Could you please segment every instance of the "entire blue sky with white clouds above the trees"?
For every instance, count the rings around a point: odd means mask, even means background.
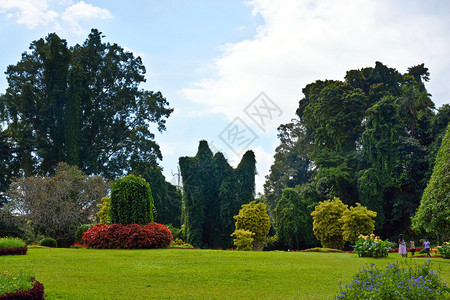
[[[33,40],[56,32],[69,45],[91,28],[141,56],[142,88],[175,108],[157,135],[169,181],[202,139],[237,165],[256,153],[262,191],[279,124],[302,88],[380,61],[400,72],[425,63],[437,107],[450,103],[450,2],[442,0],[0,0],[0,70]],[[0,93],[6,89],[0,76]]]

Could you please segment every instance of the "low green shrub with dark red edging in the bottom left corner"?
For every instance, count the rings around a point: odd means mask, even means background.
[[[44,286],[31,274],[4,271],[0,273],[0,299],[44,299]]]

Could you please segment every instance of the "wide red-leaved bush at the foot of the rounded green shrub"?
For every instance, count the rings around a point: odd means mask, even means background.
[[[172,239],[170,230],[158,223],[99,224],[83,234],[84,243],[96,249],[168,248]]]

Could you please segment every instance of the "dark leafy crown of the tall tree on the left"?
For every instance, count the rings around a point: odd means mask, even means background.
[[[7,180],[53,174],[59,162],[112,179],[162,158],[149,125],[162,132],[173,109],[160,92],[139,88],[141,58],[103,37],[92,29],[82,45],[68,47],[51,33],[7,68],[0,99]]]

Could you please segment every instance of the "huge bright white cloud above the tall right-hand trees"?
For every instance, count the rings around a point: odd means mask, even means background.
[[[317,79],[343,79],[350,69],[381,61],[406,72],[425,63],[429,91],[448,103],[450,9],[438,1],[254,0],[253,13],[264,19],[251,40],[223,46],[211,76],[182,90],[188,99],[229,120],[264,91],[294,116],[301,89]],[[444,9],[446,8],[446,9]],[[445,13],[446,11],[446,13]],[[246,120],[248,121],[248,120]]]

